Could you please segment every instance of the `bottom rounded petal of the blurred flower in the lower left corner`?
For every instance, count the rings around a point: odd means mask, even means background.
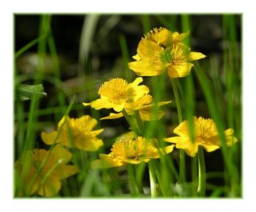
[[[48,178],[45,179],[45,183],[39,188],[38,194],[40,196],[52,197],[53,195],[56,195],[60,189],[61,182],[59,179],[53,176],[48,176]]]

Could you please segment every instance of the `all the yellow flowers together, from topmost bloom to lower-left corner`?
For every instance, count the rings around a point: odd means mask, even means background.
[[[206,57],[200,52],[191,52],[190,48],[182,43],[187,35],[188,33],[172,33],[166,28],[154,28],[141,39],[138,44],[138,53],[132,57],[136,61],[130,62],[129,68],[138,76],[157,76],[164,71],[167,71],[171,78],[187,76],[193,66],[192,60]],[[121,78],[110,79],[99,87],[100,98],[83,105],[97,110],[105,108],[116,111],[101,119],[117,119],[123,116],[129,118],[134,114],[137,114],[142,122],[161,119],[165,112],[159,110],[159,106],[171,101],[153,103],[152,96],[148,94],[149,88],[146,85],[139,85],[141,82],[143,82],[142,77],[136,78],[131,83]],[[152,113],[155,108],[157,111]],[[111,152],[99,154],[100,159],[91,162],[91,168],[111,168],[127,163],[148,162],[169,154],[174,146],[184,149],[189,156],[195,157],[198,146],[203,146],[207,152],[212,152],[219,149],[222,144],[212,119],[194,117],[193,141],[189,135],[187,120],[181,122],[173,130],[178,136],[163,139],[172,144],[161,148],[156,138],[143,137],[145,135],[140,130],[139,121],[136,118],[132,120],[138,128],[137,133],[132,131],[116,138],[110,149]],[[79,172],[76,165],[67,165],[72,158],[68,148],[97,151],[103,145],[102,140],[97,138],[103,129],[93,130],[96,125],[97,120],[89,115],[78,119],[63,117],[59,122],[58,130],[52,133],[43,132],[42,141],[54,146],[53,149],[48,151],[34,149],[31,152],[25,152],[15,162],[15,170],[23,185],[21,191],[27,195],[34,193],[46,197],[56,195],[61,188],[60,180]],[[232,129],[225,130],[227,146],[238,141],[232,135]],[[34,179],[34,182],[33,180],[31,182],[31,179]]]

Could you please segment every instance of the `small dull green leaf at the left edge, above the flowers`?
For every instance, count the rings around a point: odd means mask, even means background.
[[[39,85],[23,85],[20,84],[17,86],[18,98],[21,101],[29,100],[33,97],[42,98],[47,96],[47,93],[44,92],[44,87],[42,84]]]

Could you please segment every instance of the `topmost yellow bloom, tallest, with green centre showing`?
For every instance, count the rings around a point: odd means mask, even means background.
[[[205,58],[200,52],[190,52],[190,48],[181,43],[187,34],[171,33],[165,28],[154,29],[138,44],[136,61],[128,63],[138,76],[157,76],[167,70],[171,78],[187,76],[192,60]]]

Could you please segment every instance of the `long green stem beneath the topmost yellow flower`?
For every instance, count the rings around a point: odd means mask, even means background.
[[[178,123],[181,124],[182,122],[181,100],[178,95],[178,89],[176,86],[175,79],[170,79],[170,83],[173,87],[174,98],[176,100],[176,106],[178,111]],[[183,184],[186,181],[186,168],[185,168],[185,153],[184,153],[184,150],[182,149],[179,150],[179,159],[180,159],[179,179],[180,179],[180,183]]]

